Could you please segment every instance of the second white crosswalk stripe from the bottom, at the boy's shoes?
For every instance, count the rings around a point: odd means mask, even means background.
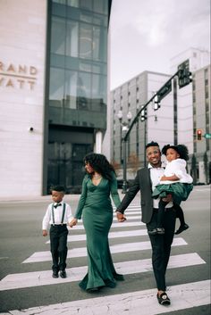
[[[198,253],[185,253],[170,257],[168,269],[195,266],[206,263]],[[122,275],[152,271],[151,259],[122,261],[114,263]],[[87,273],[87,266],[66,269],[67,278],[52,278],[52,270],[34,271],[8,275],[0,281],[0,291],[31,286],[47,286],[66,282],[80,281]]]

